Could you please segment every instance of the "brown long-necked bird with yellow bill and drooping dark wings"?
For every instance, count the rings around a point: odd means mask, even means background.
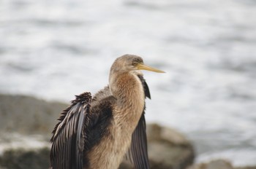
[[[113,62],[106,87],[76,95],[53,129],[51,169],[116,169],[124,157],[136,169],[149,168],[145,99],[151,95],[141,70],[165,73],[126,54]]]

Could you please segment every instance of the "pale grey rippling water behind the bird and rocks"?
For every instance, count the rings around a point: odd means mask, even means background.
[[[146,120],[180,130],[197,162],[256,165],[256,1],[1,0],[0,93],[68,102],[140,55]]]

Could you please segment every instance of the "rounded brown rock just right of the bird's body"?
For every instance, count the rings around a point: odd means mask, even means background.
[[[192,144],[176,130],[157,124],[147,125],[148,158],[151,169],[182,169],[192,165],[195,152]],[[132,168],[129,162],[120,169]]]

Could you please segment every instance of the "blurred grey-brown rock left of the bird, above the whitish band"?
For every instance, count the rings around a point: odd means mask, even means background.
[[[0,131],[50,135],[67,104],[24,95],[0,95]]]

